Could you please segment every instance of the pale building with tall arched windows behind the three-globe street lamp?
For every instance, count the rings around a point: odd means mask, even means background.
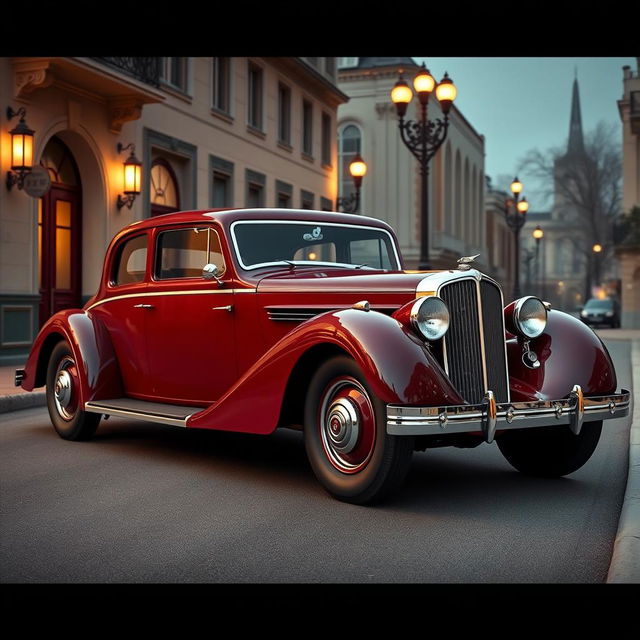
[[[353,183],[348,165],[356,151],[368,165],[359,212],[385,220],[398,234],[408,268],[420,255],[420,170],[398,131],[390,93],[401,70],[407,82],[420,70],[412,58],[339,58],[338,86],[349,102],[338,109],[339,191]],[[418,100],[406,120],[419,119]],[[435,96],[429,119],[442,118]],[[433,268],[456,267],[461,256],[480,254],[476,265],[491,273],[485,247],[484,137],[455,104],[447,139],[430,163],[429,255]]]

